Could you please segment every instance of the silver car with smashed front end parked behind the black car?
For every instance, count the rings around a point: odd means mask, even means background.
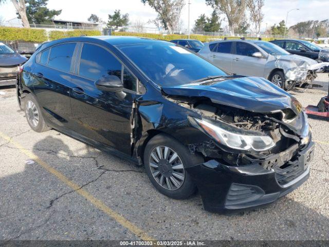
[[[285,90],[317,77],[316,69],[308,69],[317,64],[315,60],[291,55],[266,41],[213,41],[198,53],[229,73],[264,77]]]

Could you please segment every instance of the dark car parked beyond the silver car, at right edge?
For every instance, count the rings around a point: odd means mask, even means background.
[[[273,40],[270,42],[280,46],[291,54],[312,58],[318,62],[329,62],[329,56],[319,57],[320,51],[325,49],[311,42],[305,40]],[[329,51],[325,53],[329,54]]]

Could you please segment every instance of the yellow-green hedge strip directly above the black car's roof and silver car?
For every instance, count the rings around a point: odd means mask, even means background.
[[[180,34],[155,34],[155,33],[136,33],[136,32],[113,32],[113,36],[135,36],[135,37],[144,37],[144,38],[152,38],[157,40],[178,40],[178,39],[187,39],[187,35]],[[202,42],[208,42],[212,40],[224,39],[225,36],[207,36],[207,35],[195,35],[191,34],[190,39],[199,40]],[[237,37],[226,37],[227,39],[238,39]],[[250,39],[258,39],[258,38],[247,38]],[[274,38],[262,38],[264,41],[275,40]]]

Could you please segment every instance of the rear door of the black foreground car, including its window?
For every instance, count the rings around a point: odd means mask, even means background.
[[[32,77],[34,93],[47,120],[72,129],[70,83],[76,43],[54,45],[36,55]]]

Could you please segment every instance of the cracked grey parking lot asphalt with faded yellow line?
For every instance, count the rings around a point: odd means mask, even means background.
[[[326,95],[290,93],[304,107]],[[309,122],[309,179],[265,208],[223,216],[205,211],[199,195],[161,195],[142,167],[55,130],[33,132],[15,89],[0,89],[0,240],[328,240],[329,122]]]

